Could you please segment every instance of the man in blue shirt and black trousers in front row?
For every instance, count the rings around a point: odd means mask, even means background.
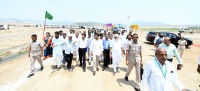
[[[103,40],[104,65],[103,65],[102,71],[104,71],[106,68],[109,68],[108,64],[110,61],[110,50],[109,50],[110,40],[108,38],[109,38],[109,36],[106,35],[105,39]]]

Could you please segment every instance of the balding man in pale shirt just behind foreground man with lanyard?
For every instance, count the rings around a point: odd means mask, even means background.
[[[171,39],[169,37],[165,37],[164,38],[164,43],[160,44],[158,46],[158,48],[163,48],[167,51],[167,60],[172,62],[173,61],[173,57],[175,55],[176,59],[179,61],[179,65],[180,65],[180,68],[183,66],[183,62],[182,62],[182,59],[178,53],[178,50],[176,49],[176,46],[171,42]],[[179,68],[179,69],[180,69]]]

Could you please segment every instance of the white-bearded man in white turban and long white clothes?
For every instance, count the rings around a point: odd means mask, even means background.
[[[115,34],[114,40],[110,45],[110,57],[112,57],[113,69],[114,69],[113,75],[115,75],[116,72],[118,71],[118,65],[122,60],[122,56],[123,56],[123,44],[119,40],[119,35]]]

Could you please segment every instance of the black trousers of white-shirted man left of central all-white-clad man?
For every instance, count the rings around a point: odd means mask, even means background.
[[[79,48],[78,52],[79,52],[80,65],[83,67],[86,67],[86,63],[85,63],[86,48]]]

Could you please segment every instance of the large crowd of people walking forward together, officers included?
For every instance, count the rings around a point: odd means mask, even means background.
[[[88,64],[93,65],[93,75],[96,75],[96,72],[100,70],[99,63],[101,62],[104,63],[102,71],[108,69],[109,64],[112,64],[113,75],[116,75],[119,64],[125,58],[127,71],[124,79],[129,81],[128,77],[135,67],[136,91],[140,91],[140,87],[145,89],[147,85],[149,91],[171,91],[173,90],[172,83],[179,90],[184,91],[172,64],[174,55],[179,62],[177,70],[181,69],[183,62],[176,47],[170,43],[170,38],[163,36],[155,38],[155,57],[148,61],[144,70],[143,47],[138,39],[138,34],[126,34],[125,31],[113,34],[99,31],[66,34],[62,31],[56,31],[54,37],[51,37],[50,33],[47,32],[44,43],[42,43],[37,40],[37,35],[33,34],[29,50],[31,72],[28,78],[34,75],[36,60],[40,63],[40,70],[43,70],[42,56],[44,56],[43,59],[53,56],[52,60],[56,62],[54,67],[56,70],[61,69],[62,66],[66,66],[69,70],[72,69],[72,60],[76,56],[76,65],[82,67],[85,72],[86,60],[88,60]],[[182,44],[185,44],[183,40],[180,41],[180,45]],[[182,46],[179,49],[182,49]],[[86,53],[88,54],[87,59]],[[140,86],[141,82],[142,86]]]

